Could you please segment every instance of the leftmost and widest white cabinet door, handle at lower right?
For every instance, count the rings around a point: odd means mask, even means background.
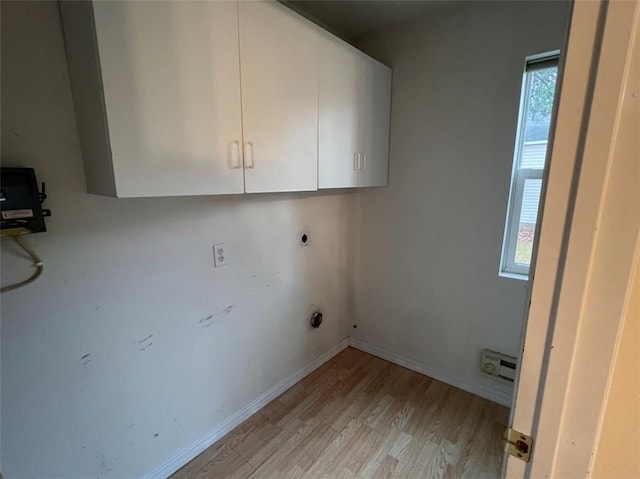
[[[95,2],[117,196],[241,193],[235,1]]]

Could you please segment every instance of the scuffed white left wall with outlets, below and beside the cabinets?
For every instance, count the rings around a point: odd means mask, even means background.
[[[2,295],[7,479],[140,477],[348,334],[354,196],[85,193],[55,2],[2,2],[2,165],[53,211]],[[30,272],[3,239],[2,284]]]

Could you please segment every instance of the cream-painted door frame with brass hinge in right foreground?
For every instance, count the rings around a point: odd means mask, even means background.
[[[534,444],[507,456],[513,479],[590,476],[640,244],[640,4],[572,8],[511,413]]]

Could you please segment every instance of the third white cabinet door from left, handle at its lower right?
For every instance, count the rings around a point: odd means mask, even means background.
[[[320,40],[318,188],[358,186],[362,54],[333,35]]]

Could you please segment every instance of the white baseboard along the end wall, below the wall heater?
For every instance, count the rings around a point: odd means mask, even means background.
[[[429,366],[425,366],[415,359],[407,358],[406,356],[402,356],[401,354],[397,354],[386,348],[374,346],[373,344],[367,343],[366,341],[349,338],[349,345],[356,349],[359,349],[360,351],[364,351],[365,353],[373,354],[374,356],[377,356],[379,358],[386,359],[387,361],[390,361],[394,364],[403,366],[407,369],[411,369],[412,371],[416,371],[420,374],[424,374],[425,376],[429,376],[430,378],[437,379],[438,381],[442,381],[443,383],[447,383],[451,386],[457,387],[458,389],[470,392],[471,394],[475,394],[476,396],[483,397],[485,399],[488,399],[489,401],[502,404],[503,406],[511,407],[511,394],[504,391],[489,388],[483,384],[460,381],[450,374],[431,368]]]

